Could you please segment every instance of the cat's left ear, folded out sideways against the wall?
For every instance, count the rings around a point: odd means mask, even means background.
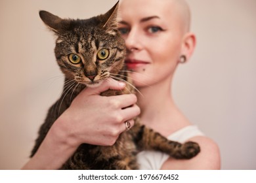
[[[70,22],[68,20],[64,20],[54,14],[51,14],[50,12],[47,12],[45,10],[39,11],[39,16],[41,20],[56,34],[61,34],[65,29],[67,29],[70,25]]]

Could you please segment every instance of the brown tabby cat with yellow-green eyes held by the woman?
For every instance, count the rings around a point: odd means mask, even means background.
[[[47,118],[39,129],[31,157],[37,152],[54,121],[70,107],[72,100],[85,87],[99,85],[102,80],[115,76],[129,81],[125,72],[125,42],[117,30],[117,7],[106,14],[87,20],[62,19],[40,11],[43,22],[55,33],[56,61],[65,75],[64,92],[49,109]],[[127,84],[123,91],[108,90],[101,95],[131,93]],[[158,150],[177,159],[190,159],[200,147],[195,142],[169,141],[160,133],[148,129],[135,119],[135,125],[123,132],[113,146],[81,144],[61,169],[138,169],[136,154],[141,150]]]

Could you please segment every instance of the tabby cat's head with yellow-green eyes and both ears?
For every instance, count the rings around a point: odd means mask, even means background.
[[[125,42],[117,30],[117,8],[118,2],[106,14],[86,20],[62,19],[39,12],[57,36],[54,52],[67,79],[98,86],[123,67]]]

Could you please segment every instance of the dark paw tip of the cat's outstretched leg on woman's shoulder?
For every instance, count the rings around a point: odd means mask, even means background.
[[[190,159],[196,156],[200,152],[200,146],[196,142],[185,142],[181,146],[182,158]]]

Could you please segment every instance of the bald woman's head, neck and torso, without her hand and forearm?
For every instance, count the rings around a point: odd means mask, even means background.
[[[190,32],[190,9],[183,0],[123,0],[119,30],[129,55],[127,67],[138,94],[140,119],[173,141],[194,141],[201,152],[178,160],[161,152],[140,152],[140,169],[220,169],[219,148],[203,135],[175,105],[173,74],[190,59],[196,37]]]

